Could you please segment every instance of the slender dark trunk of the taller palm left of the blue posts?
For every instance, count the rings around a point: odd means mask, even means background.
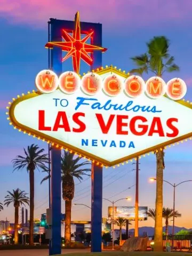
[[[30,220],[29,220],[29,245],[34,245],[34,169],[29,171],[30,183]]]

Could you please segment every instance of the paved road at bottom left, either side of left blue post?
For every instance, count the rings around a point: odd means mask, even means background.
[[[90,252],[89,249],[65,249],[62,250],[62,253],[85,253],[85,252]],[[5,250],[5,251],[0,251],[0,256],[48,256],[49,252],[48,250]]]

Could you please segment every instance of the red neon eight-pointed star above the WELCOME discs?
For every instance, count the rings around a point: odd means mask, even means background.
[[[86,43],[93,35],[93,32],[94,31],[91,31],[91,33],[81,39],[79,12],[77,12],[75,15],[75,29],[73,30],[73,36],[69,35],[65,29],[62,29],[61,36],[65,42],[48,42],[45,47],[52,49],[53,46],[58,46],[61,47],[62,51],[68,52],[65,57],[62,58],[62,62],[69,57],[72,57],[74,71],[79,74],[81,59],[84,60],[87,65],[91,66],[93,64],[93,59],[89,53],[93,53],[94,50],[102,52],[107,51],[107,48]]]

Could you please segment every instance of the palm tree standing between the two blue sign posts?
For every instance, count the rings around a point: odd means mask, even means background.
[[[71,202],[74,198],[75,183],[74,178],[82,181],[82,175],[89,175],[91,169],[84,167],[90,164],[89,161],[81,162],[82,157],[74,157],[73,153],[64,151],[61,156],[61,180],[62,180],[62,198],[65,200],[65,243],[69,245],[71,242]],[[44,170],[47,172],[47,170]],[[47,175],[43,180],[49,179]],[[41,182],[41,183],[42,183]]]

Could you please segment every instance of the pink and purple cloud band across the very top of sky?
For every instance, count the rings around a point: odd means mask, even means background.
[[[126,23],[127,27],[153,25],[161,20],[181,22],[190,18],[188,0],[1,0],[0,13],[9,22],[45,26],[49,18],[71,20],[76,11],[81,20],[105,26]]]

